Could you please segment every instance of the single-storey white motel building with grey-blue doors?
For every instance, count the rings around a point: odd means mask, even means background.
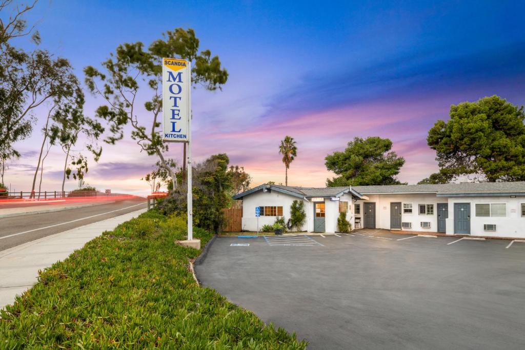
[[[346,213],[352,229],[381,228],[447,235],[525,238],[525,182],[293,187],[260,185],[233,197],[243,200],[243,230],[257,231],[276,217],[290,218],[294,200],[303,200],[302,231],[337,232]]]

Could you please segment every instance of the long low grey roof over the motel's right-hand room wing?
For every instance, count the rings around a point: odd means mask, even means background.
[[[525,182],[353,186],[352,189],[364,195],[387,193],[435,193],[438,197],[525,195]]]

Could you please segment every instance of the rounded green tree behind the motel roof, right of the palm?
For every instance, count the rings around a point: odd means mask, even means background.
[[[396,176],[405,158],[391,150],[389,139],[354,137],[343,152],[324,158],[327,169],[339,175],[327,179],[327,186],[400,185]]]

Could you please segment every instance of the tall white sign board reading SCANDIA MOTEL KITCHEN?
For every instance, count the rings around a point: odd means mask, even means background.
[[[191,67],[183,59],[162,59],[162,140],[188,142],[191,118]]]

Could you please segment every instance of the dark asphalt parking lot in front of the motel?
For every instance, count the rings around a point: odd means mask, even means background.
[[[312,349],[523,349],[525,243],[351,234],[219,237],[205,287]]]

